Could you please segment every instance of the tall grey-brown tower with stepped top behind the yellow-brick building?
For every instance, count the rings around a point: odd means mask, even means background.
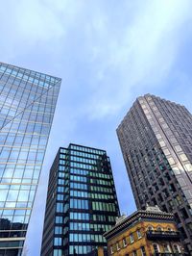
[[[137,207],[148,203],[173,213],[192,254],[192,115],[146,94],[136,99],[117,135]]]

